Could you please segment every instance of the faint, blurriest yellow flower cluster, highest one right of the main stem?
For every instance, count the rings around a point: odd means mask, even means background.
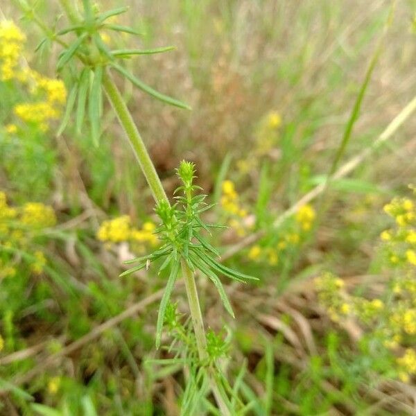
[[[280,126],[281,116],[279,112],[272,110],[263,116],[254,132],[256,141],[250,157],[240,159],[237,162],[237,167],[241,173],[248,173],[257,168],[259,159],[270,154],[270,150],[276,146],[279,139]]]

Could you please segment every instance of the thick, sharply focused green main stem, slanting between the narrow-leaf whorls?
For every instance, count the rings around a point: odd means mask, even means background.
[[[130,146],[132,146],[133,152],[135,153],[141,170],[146,177],[148,185],[153,193],[153,198],[155,198],[156,202],[166,200],[166,202],[169,203],[169,200],[162,186],[162,182],[160,182],[159,176],[157,176],[155,166],[153,165],[152,159],[150,159],[144,141],[141,138],[136,124],[132,119],[132,115],[130,114],[128,107],[125,105],[123,97],[121,96],[119,89],[114,84],[110,73],[107,71],[105,71],[103,74],[103,87],[114,109],[114,112],[116,112],[117,118],[119,119],[125,135],[130,142]],[[200,361],[203,363],[208,358],[207,337],[205,336],[204,321],[202,320],[198,290],[196,288],[193,272],[187,265],[186,261],[184,261],[184,259],[181,260],[181,266],[185,287],[187,289],[189,311],[191,313],[193,331],[195,332],[198,355]],[[221,414],[225,416],[231,415],[220,393],[220,388],[218,388],[218,384],[214,377],[213,368],[209,367],[207,371],[211,383],[211,390],[214,394],[218,407],[220,408]]]

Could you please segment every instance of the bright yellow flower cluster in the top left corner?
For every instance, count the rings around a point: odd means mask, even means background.
[[[17,80],[26,87],[31,95],[30,102],[15,105],[13,112],[21,121],[47,130],[49,122],[60,117],[67,100],[67,89],[62,80],[46,78],[27,67],[20,68],[25,40],[24,34],[12,21],[0,23],[0,80]],[[6,131],[14,134],[17,126],[10,124]]]

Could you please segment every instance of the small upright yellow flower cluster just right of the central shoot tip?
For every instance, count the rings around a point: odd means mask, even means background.
[[[234,182],[225,180],[221,189],[220,205],[225,213],[232,217],[229,219],[229,226],[236,231],[238,236],[245,236],[247,229],[250,228],[247,221],[248,211],[241,205]]]

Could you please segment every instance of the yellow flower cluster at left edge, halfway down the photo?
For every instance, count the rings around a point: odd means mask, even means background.
[[[21,207],[10,207],[6,193],[0,191],[0,245],[6,249],[24,249],[30,251],[31,239],[36,238],[33,231],[53,227],[56,216],[52,207],[41,202],[27,202]],[[0,279],[14,277],[17,269],[11,263],[11,257],[0,260]],[[46,266],[46,258],[42,251],[33,253],[30,269],[35,275],[40,275]]]

